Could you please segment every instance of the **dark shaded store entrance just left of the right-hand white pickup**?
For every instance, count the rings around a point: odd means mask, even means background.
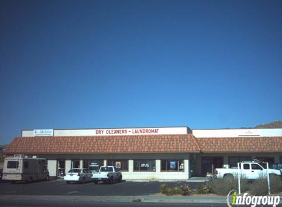
[[[221,168],[223,165],[223,157],[202,156],[202,175],[214,174],[216,168]]]

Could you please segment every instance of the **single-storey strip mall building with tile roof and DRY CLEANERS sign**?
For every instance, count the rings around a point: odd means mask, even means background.
[[[282,163],[282,129],[22,130],[5,154],[45,157],[50,176],[115,165],[125,180],[187,180],[254,158]]]

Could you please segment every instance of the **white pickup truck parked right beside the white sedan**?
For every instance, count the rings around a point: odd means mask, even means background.
[[[99,172],[94,172],[92,175],[92,180],[95,184],[98,181],[113,183],[116,180],[121,182],[122,179],[122,173],[114,166],[101,166]]]

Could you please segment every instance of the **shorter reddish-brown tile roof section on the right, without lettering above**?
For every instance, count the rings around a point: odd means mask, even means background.
[[[282,137],[197,138],[203,153],[212,152],[282,152]]]

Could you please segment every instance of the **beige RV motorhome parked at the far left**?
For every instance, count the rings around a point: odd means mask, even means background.
[[[14,157],[6,157],[4,160],[3,181],[49,181],[49,179],[45,158],[14,155]]]

